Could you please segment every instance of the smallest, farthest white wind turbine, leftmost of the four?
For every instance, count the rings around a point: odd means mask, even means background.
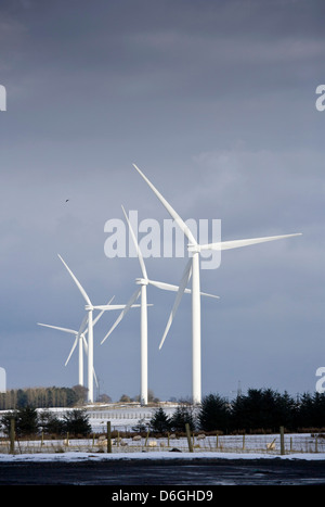
[[[108,301],[107,305],[109,305],[109,303],[113,301],[113,299],[114,299],[114,296]],[[100,318],[102,317],[104,312],[105,310],[102,309],[102,312],[99,313],[99,315],[93,320],[93,326],[95,326],[95,324],[100,320]],[[86,352],[86,355],[88,356],[88,343],[87,343],[86,337],[84,337],[84,334],[88,333],[88,329],[86,329],[87,319],[88,319],[88,316],[86,315],[84,318],[82,319],[81,326],[80,326],[78,331],[76,331],[75,329],[62,328],[62,327],[58,327],[58,326],[50,326],[49,324],[37,322],[38,326],[43,326],[46,328],[51,328],[51,329],[57,329],[58,331],[63,331],[63,332],[66,332],[66,333],[69,333],[69,334],[74,334],[76,337],[75,341],[74,341],[74,344],[72,346],[72,350],[69,352],[69,355],[68,355],[68,357],[67,357],[67,359],[65,362],[65,366],[67,366],[67,364],[68,364],[68,362],[69,362],[69,359],[70,359],[77,344],[78,344],[78,384],[79,385],[83,385],[83,350]],[[93,377],[94,377],[94,380],[96,382],[96,385],[99,386],[94,369],[93,369]]]

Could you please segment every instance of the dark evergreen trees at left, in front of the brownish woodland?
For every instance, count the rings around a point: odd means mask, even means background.
[[[50,410],[38,413],[36,408],[26,406],[6,413],[0,419],[0,428],[10,434],[11,420],[14,419],[15,434],[18,438],[39,434],[63,436],[87,436],[91,433],[89,415],[86,409],[67,410],[63,419],[58,419]]]

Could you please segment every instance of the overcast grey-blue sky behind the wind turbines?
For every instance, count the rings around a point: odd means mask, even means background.
[[[222,239],[302,232],[223,252],[202,270],[203,394],[238,384],[314,392],[325,366],[322,0],[2,0],[0,366],[8,389],[78,383],[73,337],[84,302],[126,303],[136,258],[107,258],[121,204],[169,218],[135,163],[184,218],[221,219]],[[66,202],[66,200],[69,200]],[[141,233],[139,233],[141,238]],[[186,254],[187,255],[187,254]],[[178,283],[186,258],[147,258]],[[191,297],[158,351],[174,294],[148,289],[150,388],[192,394]],[[140,392],[140,313],[103,345],[100,393]]]

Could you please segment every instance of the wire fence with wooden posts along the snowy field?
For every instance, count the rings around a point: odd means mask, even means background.
[[[325,453],[325,438],[318,434],[285,434],[283,447],[280,434],[269,435],[191,435],[191,442],[184,436],[171,434],[164,438],[134,435],[112,439],[112,453],[157,453],[188,452],[190,444],[193,453],[236,453],[236,454],[295,454],[295,453]],[[36,454],[36,453],[107,453],[106,435],[91,439],[61,440],[17,440],[11,447],[9,439],[0,441],[2,454]]]

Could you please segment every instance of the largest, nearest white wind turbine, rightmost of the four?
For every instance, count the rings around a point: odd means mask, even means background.
[[[186,286],[186,279],[191,277],[192,270],[192,397],[194,404],[200,404],[202,402],[202,360],[200,360],[200,296],[199,296],[199,253],[202,250],[231,250],[237,249],[240,246],[248,246],[251,244],[263,243],[266,241],[280,240],[283,238],[291,238],[294,236],[301,236],[301,233],[295,235],[285,235],[285,236],[272,236],[265,238],[252,238],[244,240],[234,240],[234,241],[219,241],[217,243],[209,244],[198,244],[194,236],[192,235],[187,225],[183,221],[180,215],[173,210],[173,207],[166,201],[166,199],[158,192],[154,185],[147,179],[147,177],[133,164],[133,167],[138,170],[140,176],[146,181],[151,187],[153,192],[156,194],[158,200],[165,206],[170,216],[174,219],[178,226],[181,228],[183,233],[188,239],[190,243],[187,245],[188,252],[192,253],[192,258],[188,261],[183,277],[182,282],[174,301],[174,305],[170,313],[159,348],[161,348],[164,341],[167,337],[168,330],[171,326],[173,316],[177,312],[179,303],[184,292]]]

